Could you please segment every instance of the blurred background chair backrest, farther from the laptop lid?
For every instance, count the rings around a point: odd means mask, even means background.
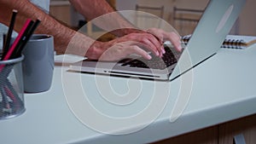
[[[164,17],[164,6],[153,7],[153,6],[142,6],[136,5],[137,10],[137,26],[140,28],[160,28],[161,20]],[[145,13],[140,13],[140,11]]]

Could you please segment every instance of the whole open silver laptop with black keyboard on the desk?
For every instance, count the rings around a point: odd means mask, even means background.
[[[176,52],[172,43],[165,43],[166,54],[162,58],[152,55],[153,60],[144,60],[131,55],[117,62],[82,60],[73,63],[70,70],[172,81],[217,53],[245,3],[246,0],[210,1],[182,53]]]

